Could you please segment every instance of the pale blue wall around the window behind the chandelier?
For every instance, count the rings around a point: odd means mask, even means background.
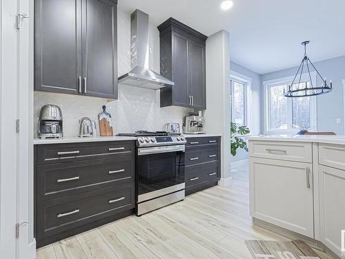
[[[313,57],[311,57],[313,61]],[[317,98],[317,131],[333,131],[337,135],[344,135],[344,95],[342,80],[345,79],[345,56],[326,59],[314,63],[319,73],[333,82],[333,92],[326,95],[320,95]],[[297,67],[279,70],[272,73],[261,75],[261,80],[267,81],[281,77],[295,75]],[[317,81],[319,84],[320,81]],[[262,100],[264,97],[263,84]],[[264,122],[264,102],[261,102],[262,122]],[[337,118],[342,119],[342,123],[337,124]],[[264,132],[262,123],[261,132]]]

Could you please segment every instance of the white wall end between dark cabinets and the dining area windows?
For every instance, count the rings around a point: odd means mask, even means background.
[[[221,178],[230,178],[230,37],[221,30],[206,41],[206,132],[221,133]]]

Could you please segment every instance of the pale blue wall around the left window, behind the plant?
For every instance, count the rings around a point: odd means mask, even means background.
[[[259,135],[261,132],[260,107],[262,97],[262,81],[260,79],[260,75],[232,61],[230,61],[230,70],[233,70],[236,73],[245,75],[246,77],[250,77],[252,79],[252,126],[250,127],[250,134]],[[246,151],[238,150],[237,155],[233,157],[231,162],[237,162],[240,160],[245,160],[247,158],[248,153],[246,153]]]

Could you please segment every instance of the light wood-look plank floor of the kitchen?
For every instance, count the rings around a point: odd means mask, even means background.
[[[250,259],[244,240],[288,240],[253,227],[248,215],[248,166],[236,170],[230,186],[215,186],[141,217],[132,215],[42,247],[37,259]]]

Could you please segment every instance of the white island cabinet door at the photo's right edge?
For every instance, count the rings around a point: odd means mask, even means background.
[[[345,249],[345,171],[319,166],[319,200],[321,241],[340,256]]]

